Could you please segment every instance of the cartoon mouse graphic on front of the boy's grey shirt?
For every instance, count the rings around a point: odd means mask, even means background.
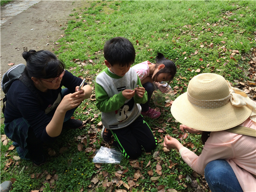
[[[119,123],[125,121],[127,118],[130,117],[131,110],[133,109],[133,105],[134,105],[134,100],[130,99],[130,101],[128,101],[127,103],[122,105],[120,109],[115,111],[116,119],[118,120]]]

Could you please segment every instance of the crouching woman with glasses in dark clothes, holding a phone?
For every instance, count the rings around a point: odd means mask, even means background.
[[[4,113],[5,134],[14,141],[20,158],[42,165],[46,163],[43,143],[53,143],[62,129],[83,126],[82,121],[71,117],[78,105],[91,96],[92,89],[84,83],[79,91],[82,80],[66,71],[50,51],[24,51],[23,58],[27,61],[23,76],[32,89],[20,80],[11,84]]]

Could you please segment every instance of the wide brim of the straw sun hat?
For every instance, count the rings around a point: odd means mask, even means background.
[[[170,109],[180,123],[200,131],[223,131],[243,123],[251,114],[248,106],[234,106],[228,102],[215,109],[203,109],[191,104],[187,93],[180,95]]]

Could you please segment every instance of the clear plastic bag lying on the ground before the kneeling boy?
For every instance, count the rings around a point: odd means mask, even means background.
[[[94,163],[120,163],[123,154],[112,148],[101,146],[93,158]]]

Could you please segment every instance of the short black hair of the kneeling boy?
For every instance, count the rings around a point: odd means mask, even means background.
[[[105,42],[104,57],[111,66],[129,66],[134,63],[135,49],[130,40],[124,37],[114,37]]]

